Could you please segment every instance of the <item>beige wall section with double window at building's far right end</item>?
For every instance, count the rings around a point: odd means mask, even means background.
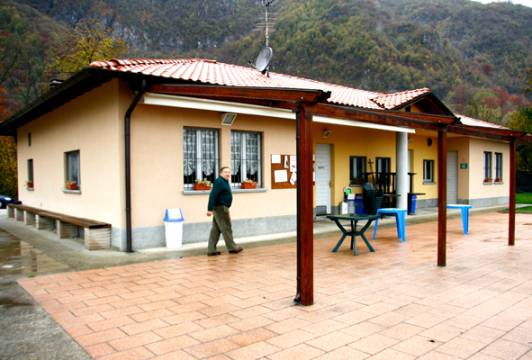
[[[510,176],[509,144],[471,138],[469,142],[469,197],[470,199],[485,199],[507,197],[509,194],[508,179]],[[484,184],[484,151],[491,151],[492,174],[495,177],[495,153],[502,153],[503,182],[500,184]]]

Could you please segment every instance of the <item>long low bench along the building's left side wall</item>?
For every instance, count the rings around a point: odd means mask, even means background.
[[[39,230],[54,231],[60,239],[77,237],[79,229],[83,229],[82,238],[88,250],[111,247],[111,224],[22,204],[8,204],[7,208],[8,217],[24,221]]]

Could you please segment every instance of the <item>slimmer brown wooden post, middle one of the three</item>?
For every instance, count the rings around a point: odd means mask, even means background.
[[[438,129],[438,266],[447,265],[447,128]]]

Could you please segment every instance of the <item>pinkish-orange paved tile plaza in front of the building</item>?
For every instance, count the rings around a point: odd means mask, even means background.
[[[99,359],[532,359],[532,216],[379,229],[369,253],[315,240],[315,305],[294,306],[295,244],[62,273],[19,283]],[[346,242],[348,242],[346,240]]]

